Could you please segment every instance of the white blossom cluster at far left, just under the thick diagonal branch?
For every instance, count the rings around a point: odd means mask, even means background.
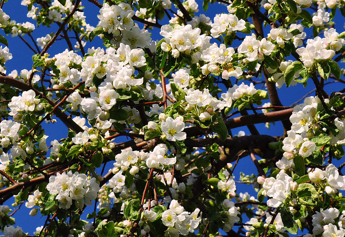
[[[36,94],[33,90],[23,91],[21,96],[13,96],[8,107],[11,109],[9,115],[13,116],[21,112],[33,112],[35,109],[40,111],[43,105],[40,99],[36,99]]]

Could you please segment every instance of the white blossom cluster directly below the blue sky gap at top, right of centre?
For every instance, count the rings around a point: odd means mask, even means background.
[[[246,22],[243,19],[238,20],[234,14],[220,14],[213,19],[211,36],[218,38],[221,34],[229,35],[233,31],[246,29]]]

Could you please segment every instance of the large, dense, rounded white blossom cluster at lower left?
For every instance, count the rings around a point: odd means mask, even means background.
[[[99,184],[96,178],[88,179],[85,174],[72,171],[63,172],[49,178],[47,190],[50,195],[57,195],[55,199],[59,202],[59,208],[68,209],[75,200],[75,206],[82,208],[91,205],[91,201],[97,198]]]

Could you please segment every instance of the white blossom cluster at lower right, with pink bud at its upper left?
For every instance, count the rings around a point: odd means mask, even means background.
[[[285,174],[284,170],[280,170],[276,178],[266,178],[263,183],[264,196],[271,197],[267,200],[267,206],[277,208],[290,195],[292,188],[296,187],[297,183],[292,181],[292,178]]]

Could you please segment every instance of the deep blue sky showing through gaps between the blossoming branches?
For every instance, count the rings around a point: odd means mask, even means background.
[[[17,23],[22,23],[22,22],[32,22],[33,24],[36,24],[36,22],[34,20],[32,20],[31,18],[27,18],[26,14],[27,14],[27,8],[25,6],[21,6],[20,5],[19,0],[17,1],[9,1],[6,2],[3,6],[3,11],[8,14],[11,17],[11,20],[16,20]],[[86,8],[84,9],[85,12],[85,16],[86,16],[86,21],[87,23],[89,23],[92,26],[97,26],[98,23],[98,19],[97,19],[97,14],[99,11],[99,8],[97,8],[96,6],[94,6],[92,3],[83,0],[82,1],[83,5],[86,6]],[[197,3],[199,4],[199,9],[200,12],[196,13],[196,15],[198,16],[198,14],[200,13],[204,13],[203,9],[202,9],[202,1],[197,0]],[[227,12],[226,11],[226,7],[220,4],[215,4],[215,5],[211,5],[209,6],[209,11],[206,14],[207,16],[209,16],[212,20],[213,17],[216,13],[222,13],[222,12]],[[343,32],[344,31],[344,21],[343,21],[343,17],[340,17],[340,12],[337,12],[337,17],[335,21],[335,28],[337,29],[337,31]],[[164,22],[164,21],[163,21]],[[167,22],[167,21],[165,21]],[[160,22],[162,23],[162,22]],[[39,38],[42,36],[46,36],[47,33],[51,33],[51,32],[55,32],[58,29],[58,27],[56,25],[53,25],[51,28],[45,27],[45,26],[40,26],[40,27],[36,27],[36,30],[34,30],[33,38]],[[266,33],[268,33],[269,29],[265,29]],[[307,35],[309,36],[311,30],[306,30]],[[3,31],[1,32],[1,34],[4,35]],[[24,43],[21,41],[21,39],[19,37],[14,37],[12,38],[10,35],[9,36],[5,36],[8,39],[9,42],[9,49],[10,52],[13,55],[13,59],[9,60],[6,62],[6,67],[7,67],[7,74],[10,73],[12,70],[16,69],[18,70],[18,72],[20,72],[20,70],[22,69],[31,69],[32,66],[32,51],[26,46],[24,45]],[[159,30],[154,30],[153,31],[153,35],[151,36],[152,39],[161,39],[160,35],[159,35]],[[30,42],[30,38],[28,36],[24,36],[24,38]],[[75,41],[73,41],[72,39],[72,45],[75,45]],[[92,41],[92,43],[87,42],[86,45],[86,49],[87,48],[91,48],[92,46],[98,47],[101,46],[102,47],[102,42],[101,40],[96,37],[94,41]],[[237,47],[238,46],[238,42],[236,44],[234,44],[233,47]],[[64,40],[59,40],[57,41],[53,47],[51,47],[48,50],[48,53],[50,55],[55,55],[57,53],[62,52],[63,50],[65,50],[67,47],[66,42]],[[258,79],[257,79],[258,80]],[[234,81],[233,81],[234,83]],[[260,84],[262,85],[262,84]],[[265,88],[260,88],[260,85],[257,86],[257,89],[265,89]],[[297,101],[298,99],[300,99],[303,95],[305,95],[307,92],[313,90],[315,87],[312,83],[311,80],[308,81],[308,86],[306,88],[303,88],[303,86],[301,84],[292,87],[292,88],[285,88],[282,87],[281,89],[278,89],[278,93],[279,93],[279,97],[280,100],[282,101],[284,106],[289,106],[292,103],[294,103],[295,101]],[[343,85],[341,85],[341,83],[330,83],[329,85],[325,86],[325,90],[330,93],[332,91],[335,90],[341,90],[343,88]],[[312,96],[315,96],[315,93],[311,94]],[[263,101],[263,102],[268,102],[267,101]],[[271,126],[270,129],[265,128],[264,124],[259,124],[256,125],[258,131],[260,132],[260,134],[267,134],[267,135],[272,135],[272,136],[281,136],[283,135],[283,128],[280,122],[276,122],[276,124],[273,126]],[[61,139],[61,138],[65,138],[66,134],[67,134],[67,128],[65,125],[62,124],[62,122],[60,122],[58,120],[57,123],[55,124],[43,124],[43,128],[45,128],[46,131],[46,135],[49,136],[49,138],[47,139],[47,144],[49,146],[49,143],[51,140],[54,139]],[[233,134],[237,134],[238,131],[243,130],[245,131],[245,133],[247,135],[249,135],[249,131],[247,130],[246,127],[242,127],[242,128],[236,128],[236,129],[232,129]],[[121,141],[120,138],[119,140],[117,140],[117,142]],[[112,162],[109,162],[109,164],[107,165],[107,168],[105,171],[107,171],[109,168],[112,167]],[[249,157],[243,158],[240,160],[239,164],[237,165],[236,169],[235,169],[235,180],[238,180],[239,178],[239,172],[240,171],[245,171],[246,174],[250,175],[252,172],[254,174],[257,173],[256,168],[254,166],[254,164],[252,163],[252,161],[250,160]],[[254,191],[254,189],[252,188],[252,186],[247,186],[244,184],[237,184],[237,191],[241,191],[241,192],[249,192],[249,194],[256,196],[256,192]],[[10,206],[11,201],[8,201],[6,204]],[[89,208],[90,212],[92,212],[93,210],[93,206]],[[32,234],[33,231],[36,230],[37,226],[41,226],[43,225],[44,221],[45,221],[45,217],[40,216],[40,214],[38,214],[35,217],[30,217],[29,216],[29,208],[26,208],[24,205],[21,207],[21,210],[18,211],[14,217],[16,218],[16,224],[19,225],[20,227],[22,227],[24,232],[29,232],[29,234]],[[28,221],[29,220],[29,221]],[[245,218],[244,218],[245,221]]]

